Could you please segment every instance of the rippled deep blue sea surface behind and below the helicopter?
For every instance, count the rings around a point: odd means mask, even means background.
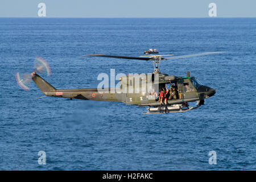
[[[110,68],[151,73],[152,63],[81,55],[141,56],[148,48],[226,51],[161,63],[162,73],[190,71],[217,93],[186,113],[143,115],[146,107],[122,103],[38,99],[34,82],[26,92],[15,81],[40,56],[55,88],[97,88]],[[0,68],[2,170],[256,169],[256,18],[0,18]]]

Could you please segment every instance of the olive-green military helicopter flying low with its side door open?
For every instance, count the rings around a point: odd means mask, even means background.
[[[41,61],[43,66],[39,66],[31,73],[31,78],[39,89],[49,97],[63,97],[81,100],[93,100],[93,101],[113,101],[123,102],[126,105],[137,105],[139,107],[148,107],[147,112],[142,114],[155,114],[155,113],[175,113],[185,112],[193,109],[197,109],[201,105],[204,105],[206,98],[212,97],[216,93],[216,89],[212,89],[208,86],[201,84],[196,77],[191,77],[190,72],[187,72],[187,76],[174,76],[167,75],[160,72],[160,62],[162,60],[181,59],[186,57],[203,56],[224,52],[205,52],[197,53],[193,55],[173,56],[173,55],[150,55],[140,57],[129,56],[115,56],[115,55],[82,55],[82,56],[99,56],[99,57],[112,57],[118,59],[129,60],[143,60],[152,61],[154,65],[154,72],[147,73],[143,76],[129,75],[120,77],[120,88],[104,88],[107,92],[100,92],[97,88],[87,89],[56,89],[46,80],[38,75],[39,68],[46,68],[49,73],[49,66],[46,61]],[[171,57],[170,57],[171,56]],[[16,73],[16,80],[20,86],[24,89],[26,82],[23,81],[22,76]],[[138,80],[138,82],[136,82]],[[148,84],[150,83],[150,84]],[[166,104],[160,102],[159,92],[166,91],[167,84],[170,84],[172,89],[175,90],[175,96],[169,99]],[[150,85],[150,86],[148,86]],[[143,90],[143,88],[146,88]],[[125,90],[125,92],[122,92]],[[130,92],[131,90],[131,92]],[[139,90],[139,92],[135,92]],[[170,92],[171,93],[171,92]],[[163,100],[162,100],[163,101]],[[188,105],[189,102],[196,102],[195,107]]]

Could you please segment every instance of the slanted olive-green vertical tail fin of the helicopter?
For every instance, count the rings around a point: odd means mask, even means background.
[[[51,84],[49,84],[46,80],[44,80],[38,74],[33,72],[31,73],[31,75],[32,75],[32,80],[35,82],[36,85],[38,85],[38,88],[44,94],[47,94],[47,92],[56,92],[56,88],[54,88]]]

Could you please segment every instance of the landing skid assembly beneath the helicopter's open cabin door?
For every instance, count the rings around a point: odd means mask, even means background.
[[[193,110],[193,109],[197,109],[198,107],[200,107],[201,105],[197,105],[196,107],[189,107],[188,105],[171,105],[171,106],[162,106],[160,111],[159,111],[159,107],[148,107],[147,108],[147,113],[142,113],[142,114],[160,114],[160,113],[184,113],[187,112],[189,110]]]

